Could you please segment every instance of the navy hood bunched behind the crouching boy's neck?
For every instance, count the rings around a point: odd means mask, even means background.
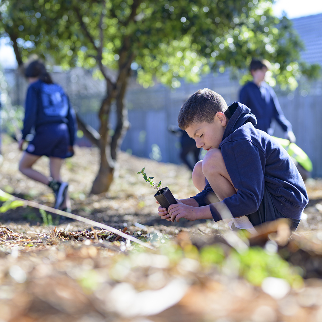
[[[246,105],[233,102],[232,105],[228,106],[228,109],[231,118],[229,119],[223,134],[223,140],[247,122],[251,122],[253,126],[256,125],[256,117]]]

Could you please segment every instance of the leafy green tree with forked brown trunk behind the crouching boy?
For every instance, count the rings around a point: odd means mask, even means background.
[[[128,127],[123,98],[131,74],[145,88],[157,79],[175,89],[182,79],[245,69],[259,57],[272,62],[276,78],[270,82],[276,79],[282,89],[295,88],[302,73],[314,76],[314,66],[298,62],[303,47],[291,22],[274,17],[271,5],[267,0],[2,0],[1,32],[10,36],[20,65],[37,53],[66,69],[93,69],[106,81],[99,135],[79,120],[100,148],[92,193],[101,193],[112,181],[113,160]],[[118,118],[109,131],[112,103]]]

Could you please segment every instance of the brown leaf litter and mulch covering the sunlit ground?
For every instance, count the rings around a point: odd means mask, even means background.
[[[15,149],[14,143],[4,145],[0,189],[51,206],[47,188],[17,173]],[[146,165],[184,198],[195,192],[183,166],[121,153],[111,191],[87,197],[97,157],[93,148],[78,148],[64,168],[74,187],[72,213],[155,250],[68,218],[53,217],[57,225],[44,226],[30,207],[10,209],[0,217],[0,320],[322,320],[320,180],[307,184],[306,224],[296,233],[289,237],[287,225],[278,222],[250,237],[213,221],[158,220],[137,170]]]

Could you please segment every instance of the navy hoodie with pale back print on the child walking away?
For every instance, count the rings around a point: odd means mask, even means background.
[[[47,123],[66,123],[69,130],[70,145],[75,139],[75,113],[68,97],[57,84],[47,84],[38,80],[27,90],[23,139],[35,128]]]

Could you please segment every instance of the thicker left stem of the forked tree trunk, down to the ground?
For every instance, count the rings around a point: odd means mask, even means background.
[[[110,155],[109,147],[109,112],[113,93],[109,93],[108,97],[103,100],[100,111],[100,129],[99,129],[99,150],[100,150],[100,166],[99,172],[93,182],[90,194],[101,194],[108,191],[113,181],[115,164]]]

